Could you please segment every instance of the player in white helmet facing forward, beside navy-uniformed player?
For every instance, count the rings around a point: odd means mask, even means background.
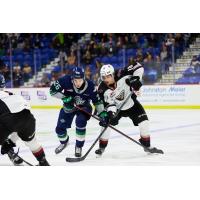
[[[115,126],[121,117],[129,117],[135,126],[139,126],[139,142],[145,147],[152,148],[150,145],[149,120],[143,106],[137,100],[137,94],[142,86],[143,72],[144,68],[138,62],[116,71],[110,64],[102,66],[100,70],[102,82],[98,87],[98,93],[104,102],[104,106],[107,107],[107,114],[100,116],[100,125],[107,126],[110,123]],[[132,97],[125,103],[117,117],[114,117],[131,91],[134,91]],[[99,148],[95,151],[96,154],[101,155],[104,152],[108,144],[109,132],[110,129],[107,129],[100,138]],[[152,150],[155,153],[160,151],[155,147]]]

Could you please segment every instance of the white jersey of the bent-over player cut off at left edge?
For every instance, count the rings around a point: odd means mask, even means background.
[[[24,109],[30,110],[30,104],[22,96],[0,91],[0,115],[17,113]]]

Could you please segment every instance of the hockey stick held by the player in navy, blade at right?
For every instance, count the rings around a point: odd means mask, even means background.
[[[91,117],[93,117],[94,119],[100,121],[99,117],[97,117],[96,115],[90,114],[88,113],[86,110],[80,108],[79,106],[76,106],[77,109],[83,111],[84,113],[90,115]],[[137,140],[134,140],[133,138],[129,137],[128,135],[126,135],[125,133],[123,133],[122,131],[116,129],[115,127],[113,127],[112,125],[108,125],[108,127],[110,127],[111,129],[115,130],[116,132],[120,133],[121,135],[123,135],[124,137],[128,138],[129,140],[131,140],[132,142],[138,144],[139,146],[141,146],[142,148],[144,148],[145,151],[148,151],[150,153],[155,153],[153,149],[150,149],[148,147],[145,147],[144,145],[142,145],[140,142],[138,142]],[[162,150],[159,150],[157,153],[160,154],[164,154],[164,152]]]

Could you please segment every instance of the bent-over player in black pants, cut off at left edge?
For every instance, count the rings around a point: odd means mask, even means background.
[[[20,95],[3,91],[4,79],[0,77],[0,145],[1,154],[8,154],[14,164],[17,160],[13,147],[18,138],[29,147],[40,166],[48,166],[44,150],[35,137],[35,118],[29,103]],[[10,138],[9,138],[10,136]]]

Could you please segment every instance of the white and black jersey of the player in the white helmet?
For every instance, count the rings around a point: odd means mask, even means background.
[[[114,79],[117,87],[112,90],[103,81],[98,87],[98,93],[100,98],[104,102],[104,106],[107,107],[108,111],[116,112],[117,109],[123,104],[127,96],[130,94],[130,85],[128,79],[132,76],[138,76],[142,79],[144,69],[140,63],[134,63],[124,69],[116,70],[114,73]],[[134,101],[130,98],[127,103],[123,106],[122,110],[127,110],[134,105]]]

